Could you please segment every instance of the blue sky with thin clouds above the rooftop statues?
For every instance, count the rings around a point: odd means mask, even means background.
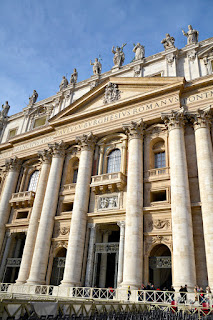
[[[92,75],[90,59],[102,57],[102,70],[113,66],[112,46],[127,43],[125,64],[133,43],[145,55],[163,51],[166,33],[182,48],[188,24],[199,41],[213,36],[212,0],[1,0],[0,103],[10,114],[22,110],[36,89],[38,100],[55,94],[62,76],[73,68],[84,80]]]

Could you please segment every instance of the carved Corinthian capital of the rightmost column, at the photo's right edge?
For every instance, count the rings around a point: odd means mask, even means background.
[[[196,113],[190,114],[191,121],[193,122],[194,129],[209,128],[212,122],[211,107],[204,110],[198,109]]]

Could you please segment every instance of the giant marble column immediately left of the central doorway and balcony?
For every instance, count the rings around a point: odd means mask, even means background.
[[[79,286],[81,283],[95,140],[92,133],[76,138],[76,142],[81,146],[81,156],[75,188],[64,277],[61,286]]]

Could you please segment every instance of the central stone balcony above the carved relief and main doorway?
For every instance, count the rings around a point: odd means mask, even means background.
[[[105,173],[92,177],[92,191],[95,194],[122,191],[126,186],[126,176],[122,172]]]

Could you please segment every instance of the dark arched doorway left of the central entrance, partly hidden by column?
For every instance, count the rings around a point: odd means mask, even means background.
[[[50,278],[50,284],[58,286],[63,280],[64,266],[66,260],[67,249],[61,248],[53,259],[53,267]]]

